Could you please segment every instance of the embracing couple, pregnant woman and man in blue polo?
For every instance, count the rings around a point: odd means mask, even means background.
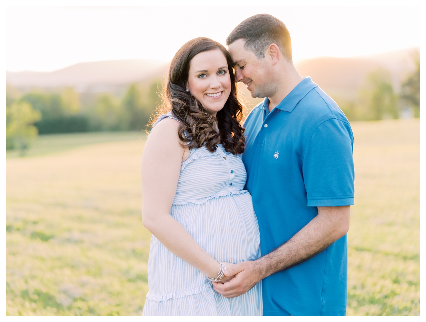
[[[142,157],[144,316],[345,315],[353,134],[257,14],[182,46]],[[236,82],[264,97],[241,125]]]

